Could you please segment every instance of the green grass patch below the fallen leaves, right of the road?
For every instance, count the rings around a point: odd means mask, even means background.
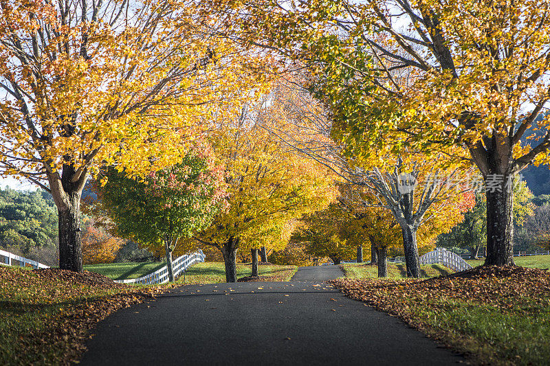
[[[432,329],[460,334],[463,350],[496,365],[542,365],[550,359],[550,309],[513,306],[507,311],[470,301],[439,299],[441,310],[411,306]]]

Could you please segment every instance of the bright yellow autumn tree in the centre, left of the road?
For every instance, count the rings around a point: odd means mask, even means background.
[[[238,249],[261,247],[258,236],[276,233],[274,228],[285,222],[325,207],[335,195],[332,177],[322,165],[287,149],[262,127],[283,123],[280,116],[261,100],[257,106],[244,105],[239,117],[220,120],[210,131],[225,166],[228,209],[194,238],[223,253],[227,282],[236,282]]]

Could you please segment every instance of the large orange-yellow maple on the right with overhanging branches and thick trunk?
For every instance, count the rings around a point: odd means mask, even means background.
[[[240,4],[225,13],[243,38],[305,60],[320,76],[311,90],[331,106],[333,137],[355,155],[380,159],[387,141],[395,152],[452,146],[475,165],[497,187],[486,192],[485,264],[514,264],[509,183],[549,160],[550,130],[531,128],[550,99],[547,0]]]

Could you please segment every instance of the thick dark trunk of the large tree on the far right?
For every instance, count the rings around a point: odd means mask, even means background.
[[[503,180],[506,182],[508,178],[505,176]],[[485,192],[487,196],[487,258],[485,265],[513,266],[513,187],[511,184],[503,184],[501,192],[494,191],[487,190]]]

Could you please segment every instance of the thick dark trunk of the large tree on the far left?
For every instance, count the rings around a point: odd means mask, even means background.
[[[58,207],[59,268],[82,272],[80,192],[67,194],[68,204]]]

